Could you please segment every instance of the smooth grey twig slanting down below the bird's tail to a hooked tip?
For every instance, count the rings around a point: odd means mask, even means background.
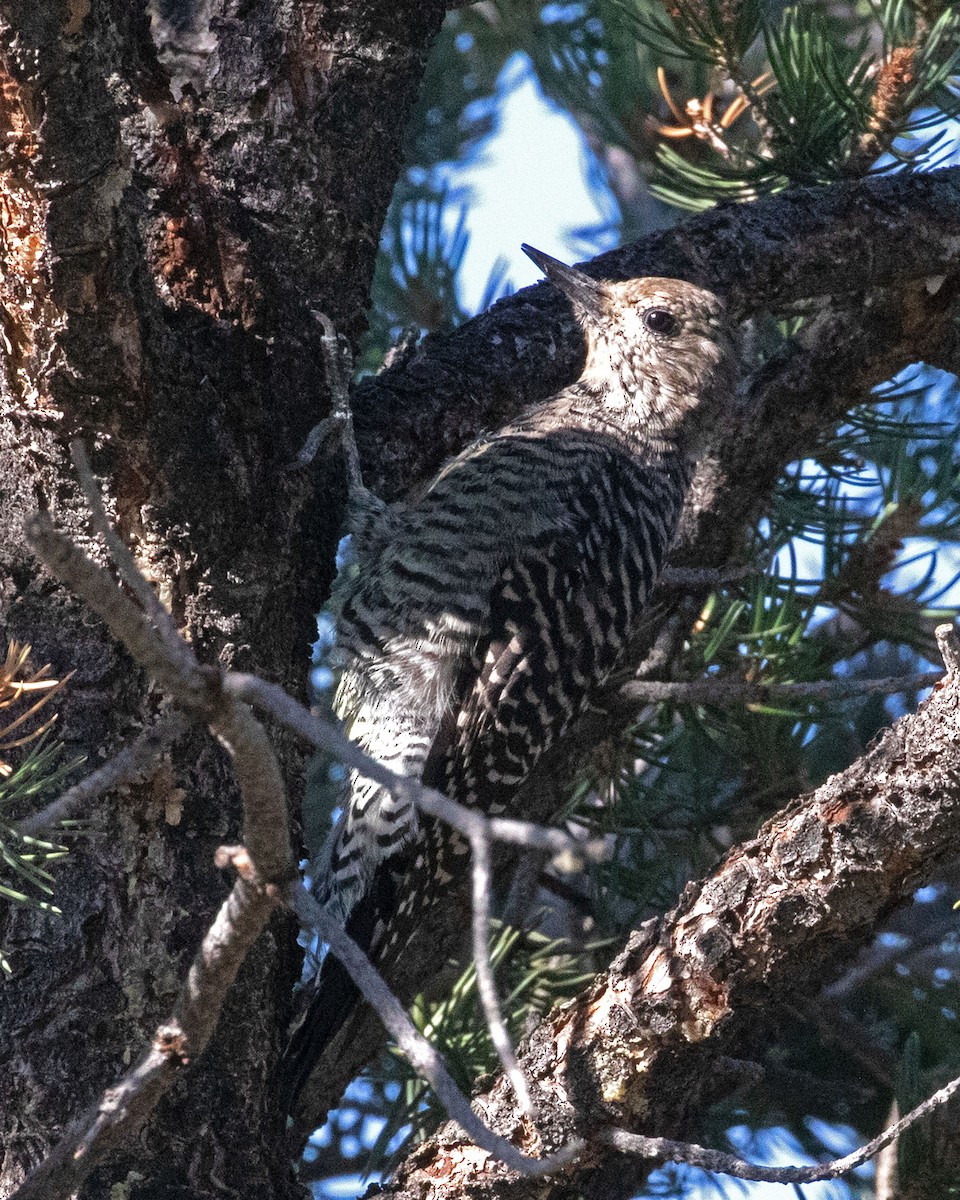
[[[317,930],[323,941],[329,944],[330,952],[347,968],[350,978],[383,1021],[388,1033],[410,1066],[427,1080],[437,1099],[472,1141],[500,1159],[511,1170],[523,1175],[550,1175],[574,1162],[583,1148],[583,1142],[580,1140],[570,1142],[547,1158],[530,1158],[528,1154],[521,1153],[512,1142],[500,1138],[499,1134],[485,1126],[454,1082],[442,1057],[415,1028],[403,1006],[386,986],[366,954],[343,930],[343,926],[313,899],[302,884],[290,883],[284,896],[300,924],[305,929]]]

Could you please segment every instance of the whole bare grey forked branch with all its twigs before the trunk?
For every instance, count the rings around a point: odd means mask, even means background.
[[[74,457],[89,494],[94,490],[94,482],[82,448],[74,448]],[[16,1200],[40,1200],[41,1196],[44,1200],[66,1200],[97,1163],[143,1124],[172,1086],[178,1069],[190,1063],[206,1046],[220,1019],[227,991],[236,978],[247,950],[281,898],[287,900],[306,928],[319,932],[331,953],[341,959],[388,1032],[394,1036],[413,1067],[424,1074],[468,1138],[521,1174],[542,1175],[566,1165],[582,1148],[577,1139],[571,1139],[553,1156],[534,1158],[520,1152],[510,1141],[491,1132],[478,1120],[440,1056],[416,1031],[367,956],[305,890],[302,882],[294,878],[296,872],[289,846],[286,791],[277,758],[263,726],[242,703],[240,695],[260,698],[266,695],[271,701],[271,710],[288,714],[288,724],[295,724],[289,719],[289,714],[294,714],[296,722],[306,722],[314,734],[316,726],[319,725],[323,731],[319,738],[322,743],[340,746],[344,750],[344,758],[349,755],[368,773],[388,776],[391,787],[397,791],[412,787],[418,803],[427,805],[434,812],[446,811],[467,833],[476,856],[474,875],[480,894],[475,931],[476,937],[482,938],[478,973],[484,977],[485,1006],[496,1022],[494,1037],[499,1036],[498,1049],[512,1075],[517,1094],[521,1100],[526,1100],[524,1112],[532,1116],[526,1081],[516,1067],[493,989],[487,946],[491,823],[438,793],[427,794],[428,790],[416,781],[410,782],[388,772],[353,746],[332,726],[317,722],[281,689],[271,689],[262,680],[250,677],[224,677],[216,670],[202,667],[173,624],[166,617],[158,619],[156,599],[144,594],[148,584],[109,526],[98,497],[94,500],[94,508],[98,530],[112,548],[119,546],[124,577],[137,598],[145,602],[148,612],[127,599],[103,568],[92,563],[68,538],[54,529],[46,515],[37,515],[30,522],[30,542],[46,565],[107,622],[134,658],[155,676],[163,678],[174,702],[208,724],[227,748],[244,802],[245,844],[221,847],[217,853],[216,865],[234,866],[239,878],[194,956],[173,1015],[157,1028],[152,1046],[137,1066],[82,1115],[48,1158],[29,1176],[17,1190]],[[169,724],[176,728],[176,722]],[[71,788],[56,805],[44,810],[46,817],[59,817],[79,798],[97,794],[130,778],[134,769],[142,769],[149,761],[148,755],[164,744],[156,731],[151,730],[150,734],[142,736],[100,772]],[[508,835],[521,836],[527,842],[538,833],[517,822],[504,822],[504,826]],[[569,850],[574,845],[574,839],[564,838],[558,830],[541,833],[542,840],[553,847]],[[584,850],[589,852],[589,847]]]

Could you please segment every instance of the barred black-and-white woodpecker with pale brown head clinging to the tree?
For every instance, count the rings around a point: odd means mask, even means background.
[[[481,436],[420,496],[361,505],[332,601],[335,708],[350,736],[490,816],[510,811],[624,665],[739,364],[714,293],[594,278],[522,248],[572,307],[580,378]],[[408,797],[348,776],[314,890],[380,967],[468,851],[426,824]],[[281,1064],[288,1111],[358,1000],[329,955],[310,992]]]

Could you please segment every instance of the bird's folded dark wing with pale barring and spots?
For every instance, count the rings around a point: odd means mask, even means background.
[[[588,707],[666,559],[679,503],[658,509],[642,474],[604,466],[492,582],[487,632],[434,740],[425,780],[482,811],[502,811]]]

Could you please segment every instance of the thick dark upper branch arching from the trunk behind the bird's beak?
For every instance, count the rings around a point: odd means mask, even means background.
[[[685,278],[727,296],[743,318],[811,296],[896,290],[948,272],[958,235],[960,168],[953,167],[721,204],[583,265],[608,278]],[[862,311],[862,300],[854,306]],[[868,346],[870,358],[880,347],[893,348],[889,338]],[[846,346],[822,341],[815,358],[820,367],[810,383],[822,395],[834,386],[824,365],[846,362]],[[384,499],[403,494],[481,430],[571,383],[582,361],[582,336],[569,306],[545,283],[523,288],[452,334],[427,337],[410,359],[356,389],[353,414],[367,486]],[[792,413],[803,414],[799,401],[791,403]],[[816,404],[815,419],[821,410]]]

